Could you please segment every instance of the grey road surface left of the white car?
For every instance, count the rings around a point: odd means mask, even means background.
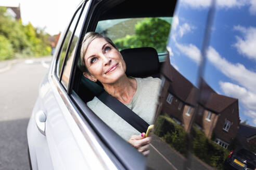
[[[0,62],[0,170],[29,169],[27,124],[50,60]]]

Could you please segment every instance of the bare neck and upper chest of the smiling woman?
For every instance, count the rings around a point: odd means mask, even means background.
[[[113,84],[103,84],[104,89],[113,97],[116,97],[121,103],[129,104],[137,89],[137,82],[134,78],[128,78],[126,75],[121,77]]]

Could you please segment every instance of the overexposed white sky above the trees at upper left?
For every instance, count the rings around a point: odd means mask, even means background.
[[[76,7],[82,0],[1,0],[0,6],[18,7],[24,24],[32,23],[35,27],[45,28],[50,35],[65,30]]]

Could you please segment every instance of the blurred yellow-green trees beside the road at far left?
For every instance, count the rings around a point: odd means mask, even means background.
[[[23,25],[21,20],[15,20],[8,15],[6,7],[0,7],[0,35],[2,36],[0,46],[5,47],[5,50],[2,50],[5,52],[0,55],[1,60],[15,56],[49,55],[52,50],[49,46],[48,34],[43,30],[35,29],[31,23]]]

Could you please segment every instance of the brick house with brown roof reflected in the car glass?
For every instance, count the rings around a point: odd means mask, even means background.
[[[170,63],[170,61],[167,61]],[[167,114],[187,131],[194,125],[215,143],[227,148],[236,137],[239,126],[237,98],[217,94],[202,81],[201,99],[195,103],[199,89],[182,76],[171,64],[163,68],[164,78],[157,115]],[[197,114],[195,114],[197,111]]]

